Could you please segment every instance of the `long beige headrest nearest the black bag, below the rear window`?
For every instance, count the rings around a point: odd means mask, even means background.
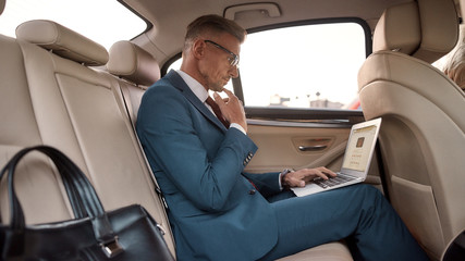
[[[16,28],[16,38],[53,50],[62,58],[85,65],[98,66],[108,62],[105,47],[51,21],[25,22]]]

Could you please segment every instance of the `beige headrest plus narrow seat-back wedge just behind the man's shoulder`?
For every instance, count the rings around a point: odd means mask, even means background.
[[[130,41],[118,41],[110,48],[107,70],[124,79],[121,89],[135,124],[140,99],[148,86],[160,79],[160,66],[147,51]]]

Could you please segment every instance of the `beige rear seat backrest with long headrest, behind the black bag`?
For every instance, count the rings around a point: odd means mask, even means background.
[[[146,208],[167,232],[174,254],[164,208],[117,99],[119,83],[86,66],[103,65],[107,50],[50,21],[24,23],[16,35],[17,40],[0,36],[0,54],[8,59],[0,65],[0,164],[27,146],[62,150],[89,177],[106,210],[132,203]],[[50,175],[48,164],[29,160],[19,170],[15,187],[27,223],[72,217],[61,183],[56,173]],[[1,213],[8,221],[3,195]]]

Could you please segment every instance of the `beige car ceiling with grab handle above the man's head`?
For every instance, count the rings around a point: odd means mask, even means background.
[[[359,17],[374,29],[382,11],[412,0],[123,0],[152,27],[132,41],[152,53],[160,64],[181,52],[185,27],[204,14],[232,15],[246,29],[295,21]],[[457,0],[458,1],[458,0]],[[266,3],[265,5],[262,5]],[[279,10],[276,16],[273,7]],[[265,8],[264,8],[265,7]],[[271,9],[268,11],[267,7]],[[232,9],[231,9],[232,8]],[[237,12],[234,12],[236,10]],[[270,13],[271,16],[270,17]]]

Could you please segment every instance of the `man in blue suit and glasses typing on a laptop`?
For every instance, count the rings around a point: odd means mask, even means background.
[[[181,70],[142,100],[137,134],[169,206],[178,260],[276,260],[340,239],[356,260],[427,260],[371,186],[295,197],[289,187],[335,174],[326,167],[244,172],[257,147],[243,105],[223,86],[238,75],[245,36],[221,16],[195,20]]]

